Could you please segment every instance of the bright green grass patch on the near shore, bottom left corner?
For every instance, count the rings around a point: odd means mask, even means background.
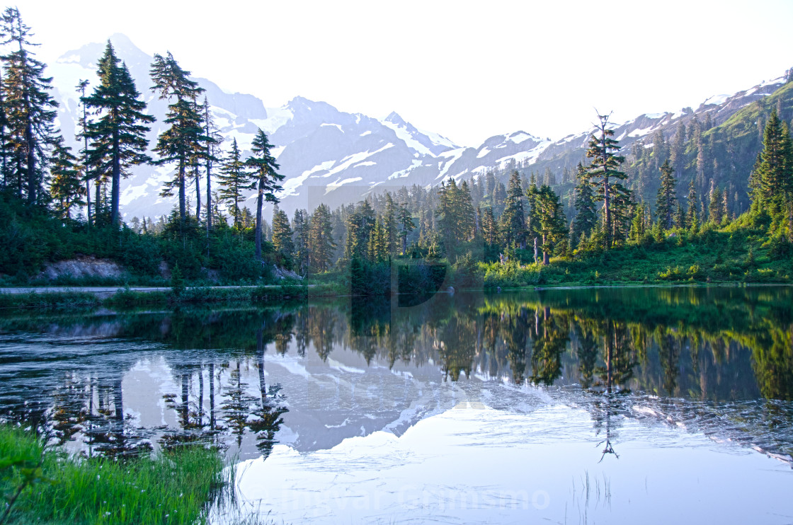
[[[44,450],[30,431],[0,425],[4,524],[204,523],[209,502],[227,481],[217,450],[197,446],[123,462],[77,458]]]

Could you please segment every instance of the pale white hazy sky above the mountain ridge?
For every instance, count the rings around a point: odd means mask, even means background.
[[[793,67],[793,1],[174,2],[22,0],[54,61],[124,33],[267,106],[296,95],[397,111],[458,144],[523,130],[561,138],[699,105]]]

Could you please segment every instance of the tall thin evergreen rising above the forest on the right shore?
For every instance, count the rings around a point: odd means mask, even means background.
[[[619,171],[625,158],[615,154],[619,151],[619,142],[612,138],[614,130],[609,128],[608,115],[598,115],[598,119],[600,136],[592,134],[587,157],[592,159],[589,178],[594,179],[598,200],[603,201],[604,248],[608,249],[614,245],[619,227],[625,220],[630,190],[620,182],[626,178],[626,174]]]

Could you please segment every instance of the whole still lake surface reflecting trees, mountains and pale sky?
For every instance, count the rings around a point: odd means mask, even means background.
[[[205,441],[213,523],[793,523],[793,289],[0,316],[0,416]]]

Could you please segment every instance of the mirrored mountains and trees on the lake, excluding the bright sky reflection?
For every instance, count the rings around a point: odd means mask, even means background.
[[[6,317],[0,407],[91,453],[211,440],[251,455],[548,392],[586,406],[606,447],[630,416],[784,452],[791,304],[787,288],[605,289]],[[531,384],[565,388],[514,388]]]

